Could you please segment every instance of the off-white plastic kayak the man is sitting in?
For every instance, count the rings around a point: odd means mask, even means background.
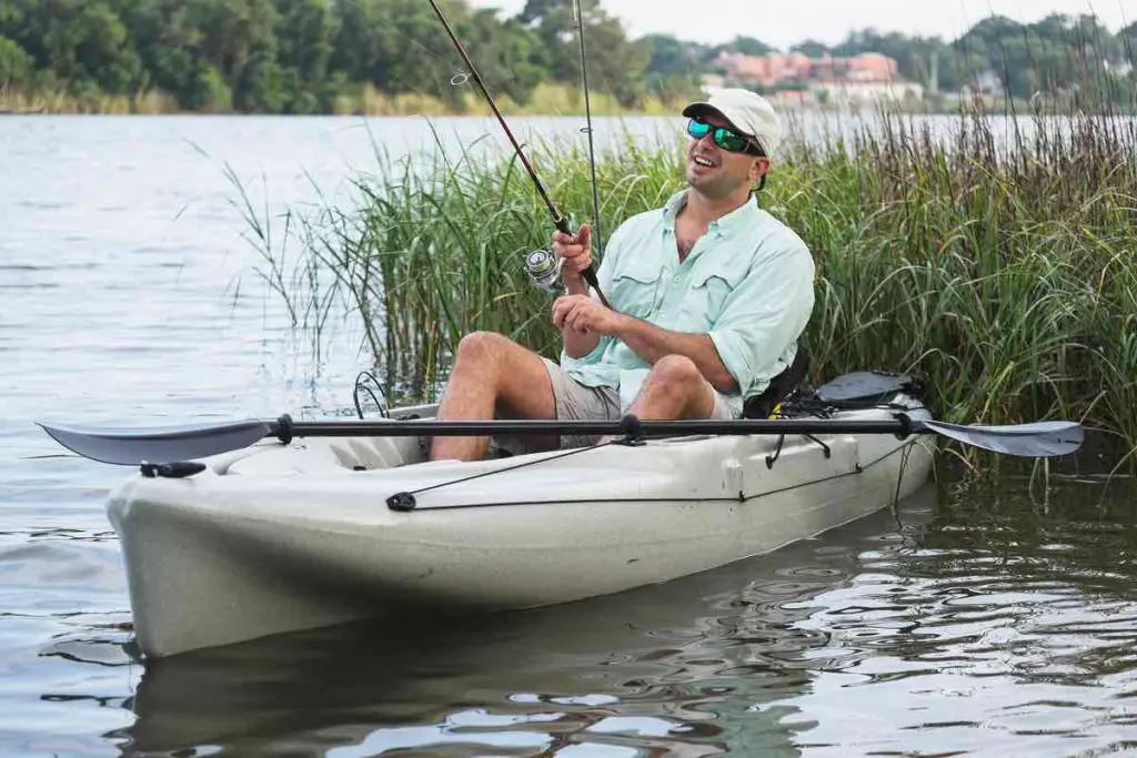
[[[930,418],[902,391],[889,400],[823,415]],[[821,414],[815,400],[810,409]],[[672,580],[873,513],[919,488],[931,455],[926,439],[868,433],[421,460],[415,438],[325,438],[214,456],[189,478],[127,482],[108,510],[143,652],[408,606],[507,610]],[[413,510],[388,507],[400,492],[415,493]]]

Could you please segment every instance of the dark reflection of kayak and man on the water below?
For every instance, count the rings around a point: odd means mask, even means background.
[[[121,747],[333,756],[401,745],[473,756],[554,755],[568,744],[582,755],[587,745],[646,755],[655,744],[669,756],[798,755],[795,734],[811,725],[786,703],[808,693],[821,665],[812,651],[832,644],[808,619],[839,605],[827,593],[863,572],[879,581],[888,570],[879,564],[912,548],[902,525],[918,534],[933,513],[926,486],[895,515],[629,593],[460,624],[409,615],[149,660]]]

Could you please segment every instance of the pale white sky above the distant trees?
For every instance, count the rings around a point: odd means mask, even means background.
[[[566,0],[567,1],[567,0]],[[520,11],[525,0],[470,0],[474,7]],[[836,44],[853,30],[870,26],[910,36],[953,40],[993,14],[1036,22],[1052,13],[1096,15],[1111,32],[1137,22],[1137,0],[600,0],[624,22],[632,38],[673,34],[715,44],[736,35],[787,49],[806,39]]]

